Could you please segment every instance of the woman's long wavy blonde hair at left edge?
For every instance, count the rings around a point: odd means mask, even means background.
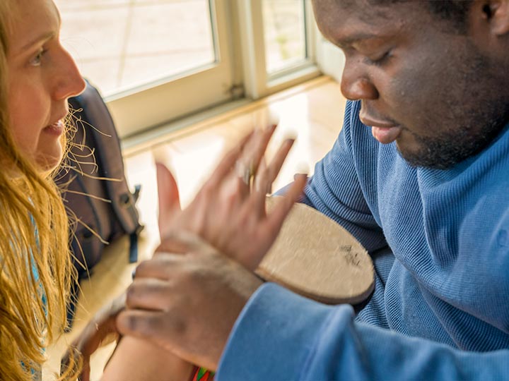
[[[68,218],[51,176],[21,155],[8,115],[8,3],[0,1],[0,377],[33,380],[63,332],[76,270]],[[76,376],[78,365],[62,379]]]

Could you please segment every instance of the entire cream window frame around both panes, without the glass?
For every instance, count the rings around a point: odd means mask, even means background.
[[[259,99],[322,74],[317,63],[320,32],[310,0],[305,0],[307,59],[271,75],[265,60],[262,1],[209,1],[217,62],[107,97],[121,138],[139,142],[143,136],[185,128],[187,120],[199,121],[200,110],[203,118],[211,117],[239,95]]]

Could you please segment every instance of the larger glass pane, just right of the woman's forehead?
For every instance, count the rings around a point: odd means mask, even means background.
[[[62,43],[105,95],[216,60],[209,0],[55,0]]]

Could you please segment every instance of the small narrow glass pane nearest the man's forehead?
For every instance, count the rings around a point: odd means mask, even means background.
[[[306,58],[304,0],[263,0],[267,73]]]

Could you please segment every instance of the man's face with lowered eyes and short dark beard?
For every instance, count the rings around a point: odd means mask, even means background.
[[[361,121],[380,143],[396,141],[410,164],[451,167],[507,122],[501,70],[470,32],[454,32],[419,2],[313,3],[320,30],[346,56],[341,92],[361,100]]]

